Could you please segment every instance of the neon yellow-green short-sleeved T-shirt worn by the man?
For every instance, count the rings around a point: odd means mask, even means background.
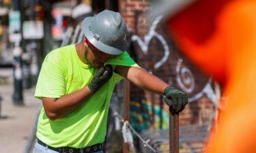
[[[139,67],[127,52],[105,64]],[[49,52],[44,59],[35,88],[35,97],[59,98],[87,86],[98,71],[80,61],[74,44]],[[85,148],[102,143],[106,135],[106,121],[113,88],[122,76],[113,76],[94,95],[72,114],[50,120],[42,107],[38,119],[37,137],[48,146]]]

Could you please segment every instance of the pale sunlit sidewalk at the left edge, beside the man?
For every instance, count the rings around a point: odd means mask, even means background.
[[[1,153],[23,153],[33,128],[40,101],[33,97],[35,88],[23,90],[23,106],[12,102],[12,69],[0,69],[1,75],[8,75],[8,84],[0,84],[0,148]]]

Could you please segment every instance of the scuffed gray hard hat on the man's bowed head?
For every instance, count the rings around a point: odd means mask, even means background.
[[[126,22],[118,12],[104,10],[82,22],[88,41],[107,54],[122,54],[126,50]]]

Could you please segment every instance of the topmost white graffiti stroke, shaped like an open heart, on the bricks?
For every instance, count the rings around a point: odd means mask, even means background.
[[[164,37],[162,35],[159,35],[155,30],[157,27],[158,22],[162,19],[162,16],[158,16],[154,22],[152,23],[152,26],[150,27],[150,31],[145,34],[143,37],[143,40],[138,36],[138,35],[132,35],[132,41],[137,41],[139,46],[141,47],[141,50],[144,53],[147,53],[148,51],[148,46],[150,44],[150,41],[152,40],[153,37],[156,37],[164,47],[164,56],[154,65],[154,69],[158,69],[159,67],[162,66],[163,63],[165,63],[169,57],[169,46],[167,44],[167,41],[165,41]]]

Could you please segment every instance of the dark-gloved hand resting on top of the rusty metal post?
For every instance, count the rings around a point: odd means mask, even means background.
[[[188,97],[186,94],[171,86],[165,88],[164,93],[165,103],[169,105],[171,112],[176,114],[182,112],[185,105],[188,103]]]

